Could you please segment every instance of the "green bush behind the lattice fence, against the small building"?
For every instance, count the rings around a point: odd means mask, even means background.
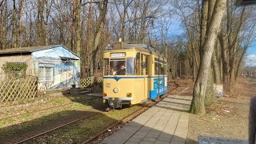
[[[6,75],[13,78],[19,78],[25,74],[27,68],[26,63],[18,63],[18,62],[6,62],[2,66],[2,70]]]

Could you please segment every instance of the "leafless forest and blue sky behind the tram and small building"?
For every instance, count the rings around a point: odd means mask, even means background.
[[[234,88],[255,41],[255,14],[234,0],[0,0],[0,49],[63,44],[83,58],[82,76],[89,76],[107,44],[143,42],[166,55],[169,78],[199,79],[205,105],[214,84],[225,93]],[[184,33],[174,34],[173,23]]]

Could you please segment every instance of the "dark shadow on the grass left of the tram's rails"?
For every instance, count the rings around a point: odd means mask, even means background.
[[[31,121],[22,122],[17,125],[7,126],[0,129],[0,143],[16,143],[25,138],[50,130],[54,127],[62,126],[68,122],[74,122],[75,120],[90,116],[91,114],[100,113],[91,111],[66,110],[42,116],[41,118],[36,118]],[[62,130],[62,128],[59,130]]]

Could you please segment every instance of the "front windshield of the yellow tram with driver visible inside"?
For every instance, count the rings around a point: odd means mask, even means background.
[[[134,74],[134,58],[122,59],[105,59],[104,66],[105,75],[133,75]]]

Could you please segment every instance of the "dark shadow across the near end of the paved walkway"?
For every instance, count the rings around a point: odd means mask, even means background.
[[[161,124],[161,123],[160,123]],[[103,144],[182,144],[189,142],[195,144],[194,140],[178,136],[172,129],[159,130],[158,124],[155,126],[145,126],[138,122],[128,122],[120,130],[116,130],[105,138]],[[182,134],[181,134],[182,135]],[[93,142],[92,142],[93,143]],[[97,142],[95,142],[97,143]]]

